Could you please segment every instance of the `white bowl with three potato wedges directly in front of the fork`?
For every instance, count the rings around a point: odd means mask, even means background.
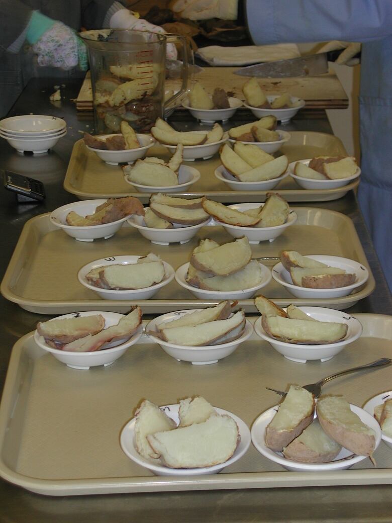
[[[352,412],[361,418],[363,423],[375,431],[375,448],[377,448],[381,441],[381,429],[376,420],[368,412],[364,411],[363,408],[352,404],[350,404],[350,408]],[[347,450],[344,447],[341,449],[338,456],[333,461],[329,461],[328,463],[299,463],[297,461],[286,459],[282,452],[275,452],[266,446],[266,427],[271,422],[277,411],[278,407],[275,406],[260,414],[260,416],[253,423],[250,434],[252,443],[260,452],[260,454],[270,459],[274,463],[279,463],[286,470],[308,472],[343,470],[349,469],[355,463],[359,463],[360,461],[366,459],[366,456],[358,456],[357,454],[353,454],[350,450]],[[352,458],[350,458],[350,456],[352,456]]]

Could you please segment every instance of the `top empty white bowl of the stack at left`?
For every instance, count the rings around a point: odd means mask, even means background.
[[[0,130],[14,134],[34,137],[46,136],[64,130],[66,122],[62,118],[50,115],[21,115],[4,118],[0,121]]]

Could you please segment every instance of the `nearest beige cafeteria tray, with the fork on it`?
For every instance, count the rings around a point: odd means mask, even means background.
[[[0,476],[47,495],[189,491],[232,488],[369,485],[392,483],[392,450],[382,441],[349,470],[289,472],[251,445],[245,456],[216,475],[154,476],[122,452],[119,435],[142,399],[167,405],[202,394],[250,427],[278,403],[265,389],[312,383],[339,370],[392,356],[392,317],[356,315],[363,335],[335,358],[295,363],[253,333],[230,356],[194,366],[168,356],[142,336],[124,356],[103,368],[76,370],[45,353],[33,333],[15,344],[0,407]],[[252,321],[252,319],[250,319]],[[390,368],[350,374],[324,386],[362,406],[390,390]],[[235,387],[233,387],[235,384]]]

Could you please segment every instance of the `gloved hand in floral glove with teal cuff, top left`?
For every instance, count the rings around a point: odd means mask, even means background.
[[[27,41],[38,55],[38,65],[60,67],[64,70],[79,65],[87,70],[87,51],[85,44],[76,32],[62,22],[52,20],[34,11],[27,29]]]

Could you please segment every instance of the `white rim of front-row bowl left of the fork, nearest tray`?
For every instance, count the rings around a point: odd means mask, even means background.
[[[171,407],[173,410],[174,410],[174,407],[177,407],[177,413],[178,413],[178,408],[179,408],[179,404],[178,403],[174,403],[174,404],[170,404],[170,405],[162,405],[159,408],[164,409],[165,407],[169,407],[169,408]],[[135,417],[133,417],[127,423],[125,423],[125,425],[121,429],[121,432],[120,432],[120,445],[121,445],[121,448],[122,448],[123,452],[125,453],[125,455],[128,456],[129,459],[133,460],[135,463],[137,463],[137,464],[141,465],[142,467],[144,467],[144,468],[146,468],[148,470],[151,470],[153,472],[163,472],[163,473],[166,472],[166,473],[168,473],[170,471],[176,471],[174,473],[174,475],[182,476],[182,475],[187,475],[187,474],[200,475],[200,474],[202,474],[203,472],[206,472],[206,471],[209,471],[209,472],[220,471],[223,468],[228,467],[228,465],[230,465],[232,463],[235,463],[241,457],[244,456],[244,454],[248,451],[248,449],[250,447],[251,437],[250,437],[249,427],[247,426],[247,424],[244,422],[243,419],[241,419],[239,416],[236,416],[232,412],[226,411],[223,408],[215,407],[215,406],[213,408],[215,408],[215,410],[216,410],[216,412],[218,414],[221,414],[221,415],[222,414],[226,414],[228,416],[231,416],[234,419],[234,421],[237,423],[239,434],[240,434],[240,437],[241,437],[241,442],[237,446],[236,451],[240,447],[241,443],[243,443],[243,448],[239,449],[239,451],[237,453],[235,451],[233,456],[231,458],[229,458],[228,460],[226,460],[225,462],[223,462],[223,463],[218,463],[216,465],[212,465],[211,467],[200,467],[200,468],[189,468],[189,469],[178,469],[177,468],[177,469],[175,469],[175,468],[165,467],[165,465],[157,465],[155,463],[148,462],[145,458],[140,456],[140,454],[137,452],[137,450],[135,448],[135,445],[134,445]],[[171,411],[169,411],[169,413],[170,412]],[[168,415],[169,415],[169,413],[168,413]],[[175,418],[172,418],[172,419],[175,419]],[[131,444],[132,444],[132,448],[134,449],[135,453],[137,454],[136,457],[135,456],[131,457],[128,454],[128,452],[126,452],[125,449],[124,449],[123,441],[124,441],[124,439],[126,437],[126,431],[131,431],[131,434],[130,434],[130,436],[132,436]]]

